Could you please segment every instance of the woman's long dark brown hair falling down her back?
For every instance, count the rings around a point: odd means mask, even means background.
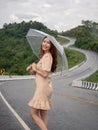
[[[43,38],[43,40],[45,39],[45,38],[47,38],[47,36],[45,36],[44,38]],[[42,42],[43,42],[43,40],[42,40]],[[51,48],[50,48],[50,53],[51,53],[51,55],[52,55],[52,58],[53,58],[53,62],[52,62],[52,66],[51,66],[51,72],[54,72],[55,70],[56,70],[56,68],[57,68],[57,49],[56,49],[56,47],[53,45],[53,43],[50,41],[50,43],[51,43]],[[41,49],[40,49],[40,58],[42,58],[42,56],[44,55],[44,51],[42,50],[42,44],[41,44]]]

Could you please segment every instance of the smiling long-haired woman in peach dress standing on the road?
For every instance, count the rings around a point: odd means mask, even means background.
[[[47,110],[52,107],[53,92],[51,73],[57,67],[57,50],[48,37],[42,40],[39,62],[31,67],[30,72],[36,74],[36,91],[29,102],[30,114],[41,130],[48,130]]]

